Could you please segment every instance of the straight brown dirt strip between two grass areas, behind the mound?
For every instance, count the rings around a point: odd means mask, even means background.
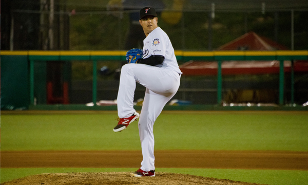
[[[156,168],[308,170],[308,152],[155,151]],[[1,168],[140,168],[141,151],[2,151]]]

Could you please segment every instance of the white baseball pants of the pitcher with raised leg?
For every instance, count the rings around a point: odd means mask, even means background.
[[[136,82],[146,87],[139,118],[139,136],[143,160],[141,170],[155,170],[153,125],[166,103],[177,93],[180,86],[178,72],[145,64],[125,64],[121,70],[118,92],[118,116],[130,117],[133,108]]]

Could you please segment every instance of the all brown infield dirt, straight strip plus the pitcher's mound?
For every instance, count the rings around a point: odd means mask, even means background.
[[[308,170],[308,152],[155,151],[157,168]],[[125,157],[123,157],[125,156]],[[3,151],[1,168],[140,168],[140,151]],[[157,172],[130,177],[129,172],[39,174],[5,182],[32,184],[233,184],[247,183]]]

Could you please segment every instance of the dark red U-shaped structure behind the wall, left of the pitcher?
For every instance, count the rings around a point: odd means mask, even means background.
[[[47,83],[47,104],[69,104],[68,97],[68,83],[63,82],[63,96],[62,97],[54,97],[53,96],[53,84],[52,82]]]

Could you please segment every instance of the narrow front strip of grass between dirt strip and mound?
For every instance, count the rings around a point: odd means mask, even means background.
[[[10,181],[42,173],[73,172],[133,172],[132,168],[18,168],[1,169],[1,182]],[[305,185],[308,184],[308,171],[292,170],[232,170],[232,169],[168,169],[159,168],[158,172],[191,174],[203,177],[230,179],[243,182],[254,182],[272,185]]]

